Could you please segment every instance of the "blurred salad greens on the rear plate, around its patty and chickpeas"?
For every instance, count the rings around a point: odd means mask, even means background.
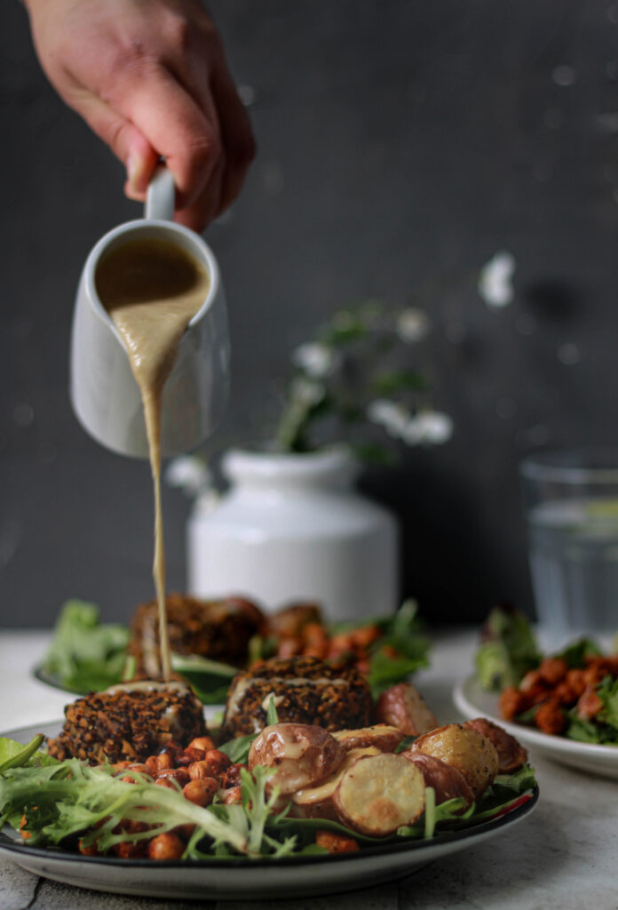
[[[369,649],[367,678],[374,697],[394,682],[405,680],[428,665],[429,641],[422,632],[416,604],[404,602],[392,617],[339,623],[330,632],[349,632],[377,626],[381,637]],[[129,631],[123,625],[100,622],[98,607],[84,601],[65,603],[40,670],[49,681],[79,695],[101,691],[130,679],[133,659],[127,655]],[[274,653],[272,638],[255,636],[249,662]],[[394,656],[396,653],[396,656]],[[194,686],[204,704],[225,701],[238,667],[198,655],[172,654],[172,668]]]

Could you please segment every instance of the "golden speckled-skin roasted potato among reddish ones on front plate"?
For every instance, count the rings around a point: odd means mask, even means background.
[[[463,774],[478,799],[498,773],[498,753],[493,743],[476,730],[461,723],[448,723],[430,733],[424,733],[412,744],[410,753],[434,755]]]

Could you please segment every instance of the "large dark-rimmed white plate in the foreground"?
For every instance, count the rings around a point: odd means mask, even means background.
[[[26,743],[36,733],[55,736],[61,724],[3,733]],[[495,837],[530,814],[538,799],[535,789],[527,802],[490,822],[451,834],[438,834],[431,841],[409,841],[368,847],[359,853],[337,856],[306,856],[303,860],[213,859],[188,862],[126,860],[82,856],[59,849],[22,844],[13,829],[0,832],[0,854],[35,875],[123,895],[168,898],[268,899],[308,897],[352,891],[411,875],[435,859],[442,859]]]

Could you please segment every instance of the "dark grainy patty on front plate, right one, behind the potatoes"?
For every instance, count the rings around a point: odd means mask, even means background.
[[[354,666],[316,657],[274,657],[234,676],[223,740],[263,730],[271,695],[280,723],[313,723],[328,731],[369,723],[371,691]]]

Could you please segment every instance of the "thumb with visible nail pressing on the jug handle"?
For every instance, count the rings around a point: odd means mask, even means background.
[[[126,167],[125,194],[142,200],[159,156],[145,136],[122,114],[88,93],[80,99],[79,113]]]

